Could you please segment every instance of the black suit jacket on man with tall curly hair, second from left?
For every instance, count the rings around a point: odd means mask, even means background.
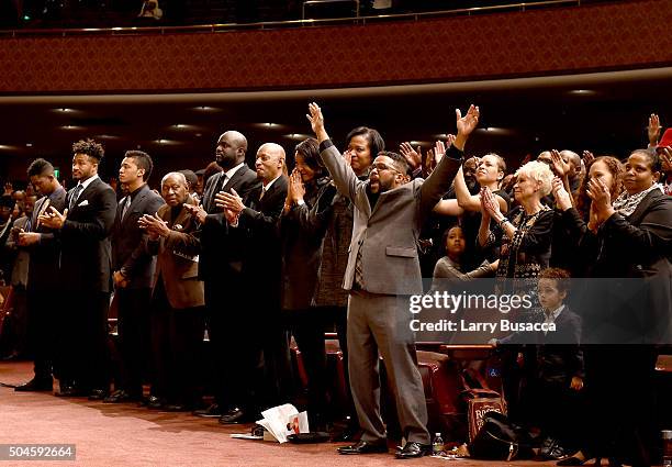
[[[69,205],[74,190],[68,191]],[[116,212],[116,194],[100,178],[93,180],[77,199],[58,232],[60,238],[60,277],[67,291],[112,290],[110,233]]]

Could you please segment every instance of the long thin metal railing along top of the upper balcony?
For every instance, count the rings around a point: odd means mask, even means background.
[[[422,11],[412,13],[377,14],[367,16],[305,19],[287,21],[265,21],[257,23],[216,23],[199,25],[166,26],[122,26],[122,27],[80,27],[80,29],[13,29],[0,31],[0,37],[21,36],[79,36],[79,35],[138,35],[138,34],[176,34],[176,33],[221,33],[240,30],[269,30],[283,27],[310,27],[335,24],[370,24],[389,21],[421,21],[428,18],[470,16],[475,14],[527,11],[552,7],[580,7],[585,0],[545,0],[518,2],[488,7],[471,7],[453,10]]]

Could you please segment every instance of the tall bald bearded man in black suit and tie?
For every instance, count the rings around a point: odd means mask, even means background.
[[[247,140],[236,131],[223,133],[215,149],[215,162],[223,168],[208,179],[200,207],[186,205],[201,227],[201,255],[199,279],[205,287],[205,321],[214,360],[215,400],[199,416],[225,415],[236,408],[239,380],[239,333],[236,320],[245,307],[243,288],[242,253],[244,237],[238,232],[229,234],[224,211],[215,204],[221,191],[234,190],[242,196],[259,187],[257,175],[245,164]],[[231,407],[229,407],[231,405]]]

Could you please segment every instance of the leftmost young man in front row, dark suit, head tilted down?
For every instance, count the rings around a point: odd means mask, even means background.
[[[66,191],[54,176],[54,166],[45,159],[35,159],[29,166],[31,184],[42,194],[18,244],[30,254],[27,279],[29,342],[35,360],[35,376],[18,386],[15,391],[51,391],[53,389],[53,362],[55,352],[53,296],[59,288],[58,242],[54,232],[40,222],[40,215],[49,207],[63,211]]]

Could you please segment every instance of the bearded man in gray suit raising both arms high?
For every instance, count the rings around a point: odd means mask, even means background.
[[[355,224],[344,289],[348,300],[348,365],[350,388],[363,434],[340,454],[388,451],[380,416],[378,353],[382,355],[396,402],[406,445],[397,458],[429,452],[427,408],[410,327],[407,296],[422,293],[416,238],[432,209],[448,191],[462,162],[462,149],[479,120],[471,105],[463,118],[457,110],[458,135],[434,173],[406,182],[407,164],[395,153],[382,152],[369,179],[359,180],[334,147],[324,129],[320,107],[309,105],[309,120],[321,156],[338,191],[355,204]]]

